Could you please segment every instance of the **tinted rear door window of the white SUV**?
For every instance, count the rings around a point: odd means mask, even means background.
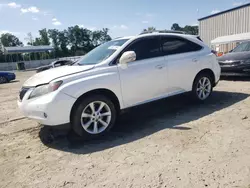
[[[191,41],[180,38],[162,38],[162,48],[164,55],[180,54],[201,50],[202,47]]]

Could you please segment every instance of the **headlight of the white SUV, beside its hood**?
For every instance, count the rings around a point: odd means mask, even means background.
[[[62,81],[58,81],[35,87],[35,89],[31,92],[29,99],[56,91],[62,85],[62,83]]]

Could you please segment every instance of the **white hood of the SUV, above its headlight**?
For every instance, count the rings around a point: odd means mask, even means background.
[[[62,66],[55,69],[49,69],[44,72],[40,72],[29,78],[24,87],[33,87],[41,84],[49,83],[50,81],[63,76],[77,74],[94,68],[94,65],[84,66]]]

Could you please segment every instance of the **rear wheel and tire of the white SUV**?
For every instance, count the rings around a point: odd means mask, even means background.
[[[213,91],[213,79],[207,73],[199,74],[193,83],[192,96],[195,101],[206,101]]]

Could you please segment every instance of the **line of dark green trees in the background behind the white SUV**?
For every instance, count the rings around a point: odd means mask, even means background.
[[[155,27],[148,27],[145,31],[155,31]],[[187,34],[198,35],[198,26],[186,25],[185,27],[179,26],[174,23],[171,30],[184,31]],[[41,29],[39,36],[34,38],[31,33],[27,34],[25,38],[28,45],[52,45],[54,52],[48,53],[30,53],[24,54],[25,60],[28,59],[45,59],[45,58],[59,58],[68,56],[80,56],[88,53],[98,45],[111,40],[109,29],[103,28],[101,30],[91,31],[87,28],[79,27],[78,25],[68,27],[64,30],[58,29]],[[24,46],[23,42],[18,37],[11,33],[4,33],[0,36],[0,49],[4,47]],[[5,62],[6,58],[0,50],[0,62]],[[11,56],[13,61],[22,59],[21,55]]]

